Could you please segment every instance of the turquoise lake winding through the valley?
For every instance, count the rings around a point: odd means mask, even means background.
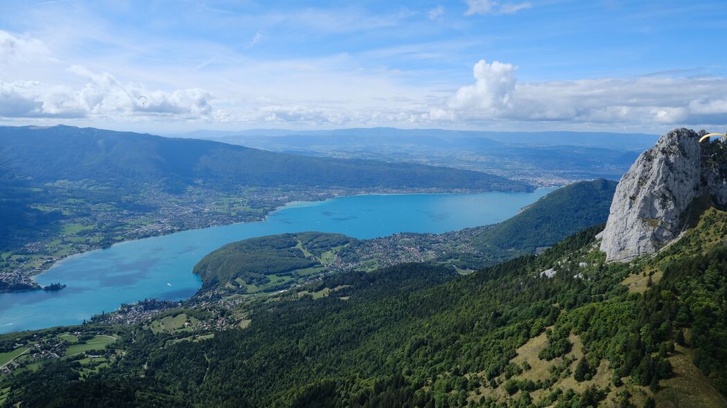
[[[177,232],[82,253],[36,277],[57,292],[0,294],[0,332],[75,325],[145,298],[179,300],[201,286],[193,266],[228,242],[284,232],[340,232],[356,238],[397,232],[449,232],[494,224],[553,191],[531,193],[358,195],[292,203],[265,221]]]

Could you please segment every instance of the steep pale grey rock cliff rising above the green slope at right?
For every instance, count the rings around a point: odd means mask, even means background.
[[[608,261],[654,253],[704,208],[725,207],[727,145],[700,144],[700,134],[686,128],[670,131],[623,176],[601,242]]]

